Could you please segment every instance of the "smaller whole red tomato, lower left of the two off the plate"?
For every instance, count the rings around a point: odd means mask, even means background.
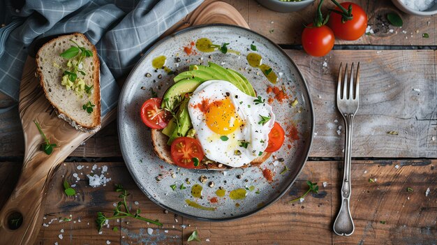
[[[321,57],[325,56],[334,47],[334,32],[329,27],[313,27],[309,24],[302,33],[302,46],[307,54]]]

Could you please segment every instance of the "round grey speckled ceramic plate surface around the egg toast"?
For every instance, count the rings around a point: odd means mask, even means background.
[[[193,52],[190,55],[186,54],[184,47],[190,49],[190,43],[198,38],[209,38],[219,45],[230,43],[229,48],[242,54],[222,54],[219,51],[205,53],[199,52],[195,47],[192,47]],[[262,55],[263,64],[272,66],[278,75],[276,84],[270,83],[261,70],[249,66],[246,55],[254,52],[251,44],[257,47],[256,53]],[[151,61],[161,55],[167,57],[168,68],[179,72],[188,70],[190,64],[207,64],[207,61],[213,61],[242,73],[258,95],[272,98],[270,102],[276,121],[283,126],[287,135],[283,147],[259,167],[244,169],[188,170],[161,161],[152,149],[150,130],[140,119],[140,107],[151,98],[151,89],[158,96],[163,96],[165,89],[173,83],[174,75],[167,75],[163,69],[152,68]],[[288,98],[278,101],[273,92],[267,93],[268,87],[283,89]],[[292,103],[295,100],[297,104]],[[286,52],[271,40],[249,29],[215,24],[184,29],[160,40],[149,49],[124,84],[119,99],[118,128],[121,152],[126,165],[133,179],[150,200],[164,209],[189,218],[227,221],[254,214],[286,193],[304,167],[309,154],[314,116],[304,77]],[[263,175],[263,171],[269,170],[274,175],[272,181],[268,181]],[[201,175],[208,178],[205,184],[199,180]],[[214,182],[213,187],[209,187],[210,181]],[[179,188],[182,184],[185,189]],[[195,184],[202,186],[202,198],[194,198],[191,194],[191,188]],[[170,187],[172,185],[177,186],[175,190]],[[225,190],[223,197],[216,194],[219,188]],[[245,198],[232,199],[230,193],[234,190],[246,192]],[[205,209],[192,207],[187,201]]]

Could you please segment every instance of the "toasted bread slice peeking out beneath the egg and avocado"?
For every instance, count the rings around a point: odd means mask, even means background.
[[[151,144],[154,146],[154,151],[156,156],[161,158],[166,163],[170,163],[175,165],[172,161],[172,156],[170,154],[170,146],[167,145],[168,136],[163,134],[161,130],[151,129]],[[258,156],[253,161],[251,161],[251,166],[258,166],[264,163],[272,153],[264,152],[261,156]],[[246,168],[248,165],[244,165],[241,168]],[[223,170],[227,168],[232,168],[224,164],[216,163],[214,161],[202,161],[200,163],[200,169],[209,169],[209,170]]]

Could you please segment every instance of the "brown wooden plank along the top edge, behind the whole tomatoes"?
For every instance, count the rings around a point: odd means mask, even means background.
[[[276,13],[260,6],[254,0],[239,1],[225,0],[238,6],[238,9],[249,8],[249,26],[253,31],[271,38],[275,43],[286,45],[301,44],[303,24],[313,21],[317,4],[313,4],[304,10],[293,13]],[[392,1],[369,1],[353,0],[366,11],[369,25],[375,34],[362,36],[355,41],[336,40],[339,45],[436,45],[437,22],[436,17],[418,17],[407,15],[397,9]],[[316,1],[318,3],[318,1]],[[323,13],[327,13],[327,7],[334,8],[334,4],[325,1]],[[399,13],[403,19],[403,27],[393,27],[387,21],[387,13]],[[272,31],[274,30],[274,31]],[[429,38],[423,38],[422,34],[429,34]]]

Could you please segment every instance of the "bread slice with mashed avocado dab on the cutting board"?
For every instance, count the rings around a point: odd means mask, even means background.
[[[82,61],[81,70],[84,71],[85,75],[77,73],[77,77],[83,78],[87,86],[94,86],[89,96],[85,93],[78,96],[75,91],[67,90],[61,84],[64,70],[67,70],[68,59],[59,56],[59,54],[75,45],[71,40],[93,53],[92,57],[85,57]],[[66,120],[77,130],[98,131],[101,127],[100,62],[96,47],[89,42],[87,37],[75,33],[50,40],[38,50],[36,67],[36,74],[40,78],[45,97],[56,110],[58,117]],[[88,102],[95,105],[91,114],[83,109],[83,105]]]

